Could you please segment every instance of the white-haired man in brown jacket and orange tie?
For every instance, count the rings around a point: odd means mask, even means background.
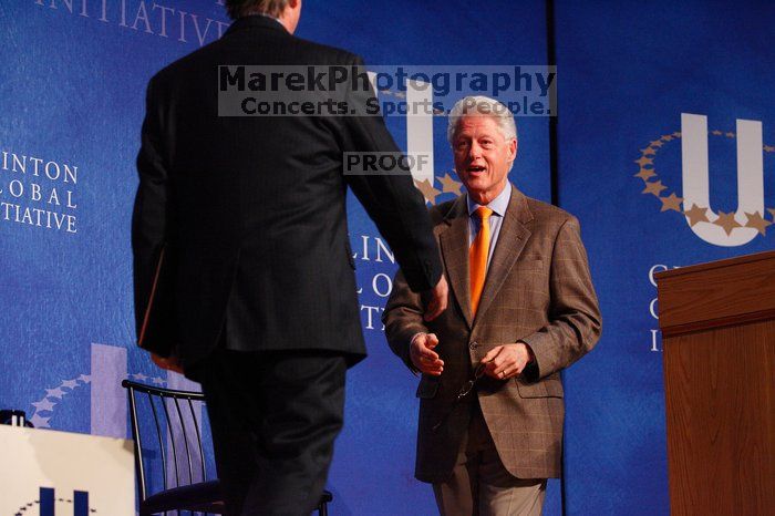
[[[417,388],[417,479],[442,515],[538,515],[560,474],[559,372],[596,344],[601,318],[578,220],[508,182],[514,117],[458,102],[447,138],[467,195],[431,209],[450,309],[423,320],[401,272],[384,311]]]

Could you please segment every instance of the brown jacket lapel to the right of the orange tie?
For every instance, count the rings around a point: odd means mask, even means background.
[[[497,296],[498,290],[500,290],[506,276],[508,276],[508,272],[512,270],[514,262],[517,261],[517,258],[519,258],[519,255],[525,248],[527,239],[530,237],[530,230],[526,227],[526,224],[530,220],[533,220],[533,214],[527,207],[525,195],[512,186],[512,198],[508,202],[508,208],[506,208],[500,233],[498,234],[498,241],[495,245],[493,258],[489,261],[487,278],[485,279],[484,290],[482,291],[479,308],[476,310],[474,324],[485,316],[495,296]],[[465,241],[466,244],[468,242],[467,239]],[[468,268],[466,266],[466,275],[467,274]],[[468,310],[471,311],[471,309]]]

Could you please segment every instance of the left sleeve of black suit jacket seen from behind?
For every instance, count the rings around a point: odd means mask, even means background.
[[[163,114],[155,79],[148,83],[137,155],[140,185],[132,216],[135,322],[137,336],[151,298],[156,265],[167,239],[168,175],[163,153]]]

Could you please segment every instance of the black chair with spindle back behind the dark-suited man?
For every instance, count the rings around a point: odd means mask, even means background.
[[[202,445],[199,422],[194,410],[194,403],[204,403],[204,394],[162,389],[130,380],[124,380],[121,385],[127,390],[130,401],[140,516],[159,513],[166,516],[167,512],[174,510],[205,515],[224,514],[220,482],[217,478],[207,479],[206,455]],[[148,417],[148,423],[142,424],[146,420],[141,422],[138,415],[141,405],[147,406],[153,422]],[[142,432],[141,426],[144,429],[151,426],[151,429],[148,432]],[[161,460],[163,487],[149,494],[154,473],[149,463],[153,458]],[[157,471],[155,473],[153,478],[159,476]],[[332,499],[333,495],[324,491],[318,504],[320,516],[328,515],[328,504]]]

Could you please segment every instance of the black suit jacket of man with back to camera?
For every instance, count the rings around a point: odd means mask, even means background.
[[[230,349],[332,350],[355,362],[365,348],[347,187],[415,290],[441,276],[424,199],[406,175],[342,174],[344,152],[399,151],[380,115],[219,117],[218,66],[236,64],[362,66],[254,16],[151,80],[132,233],[138,333],[166,242],[174,301],[156,320],[172,326],[184,367],[221,329]]]

